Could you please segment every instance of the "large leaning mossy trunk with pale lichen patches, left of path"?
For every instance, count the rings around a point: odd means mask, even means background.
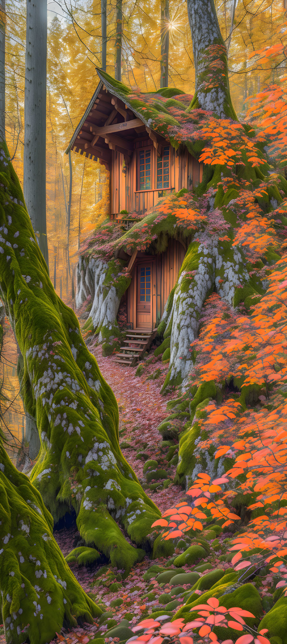
[[[116,399],[49,280],[5,144],[0,234],[1,296],[24,357],[24,406],[41,441],[31,480],[55,519],[74,507],[85,542],[128,569],[143,551],[117,522],[141,546],[160,513],[121,453]]]

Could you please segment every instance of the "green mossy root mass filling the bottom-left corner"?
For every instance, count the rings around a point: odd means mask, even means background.
[[[0,439],[1,440],[1,439]],[[8,644],[45,644],[65,626],[93,623],[85,594],[53,538],[53,518],[0,444],[0,590]]]

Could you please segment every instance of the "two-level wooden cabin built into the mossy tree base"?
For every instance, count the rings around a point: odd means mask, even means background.
[[[94,158],[109,169],[110,220],[125,218],[122,210],[144,214],[171,191],[193,189],[202,180],[202,164],[184,146],[180,146],[183,151],[171,147],[168,140],[148,127],[141,113],[132,109],[128,97],[125,99],[116,85],[101,77],[100,70],[98,75],[98,87],[66,152],[73,150]],[[185,253],[182,243],[170,240],[166,251],[156,256],[143,252],[134,253],[132,258],[126,255],[132,274],[126,293],[128,327],[155,328]]]

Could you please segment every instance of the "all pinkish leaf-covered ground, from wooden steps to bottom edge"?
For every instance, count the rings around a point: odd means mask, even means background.
[[[123,455],[134,469],[146,494],[152,498],[161,511],[173,507],[184,497],[182,488],[175,486],[172,482],[175,466],[168,469],[171,483],[167,488],[150,489],[150,487],[146,487],[146,477],[143,474],[145,460],[138,457],[139,452],[143,451],[149,459],[157,460],[159,455],[162,459],[162,453],[159,450],[162,436],[157,430],[157,426],[170,414],[166,410],[166,404],[168,400],[175,397],[174,394],[164,397],[161,395],[168,363],[162,363],[161,357],[156,358],[153,356],[153,352],[150,352],[148,360],[144,361],[143,372],[140,376],[135,376],[138,365],[135,367],[119,365],[114,362],[113,356],[103,357],[101,346],[96,345],[94,338],[87,339],[85,337],[85,341],[89,351],[95,355],[98,361],[101,374],[116,396],[119,406],[119,442]],[[155,372],[158,377],[153,379],[152,376]],[[168,466],[168,462],[166,464]],[[75,547],[77,538],[80,538],[76,529],[62,529],[54,536],[64,556]],[[83,589],[105,611],[105,618],[101,619],[100,625],[97,621],[92,626],[83,625],[82,629],[73,629],[69,634],[63,632],[62,637],[65,643],[81,642],[85,644],[94,636],[95,632],[99,632],[99,627],[105,636],[108,629],[113,625],[122,624],[123,620],[125,621],[122,625],[132,629],[141,618],[152,613],[153,607],[155,610],[162,609],[162,614],[164,614],[161,595],[170,592],[170,585],[156,582],[154,579],[156,572],[151,575],[152,580],[150,575],[147,578],[144,573],[147,573],[152,565],[156,564],[162,567],[167,561],[166,558],[151,560],[149,556],[146,556],[141,564],[134,566],[126,579],[121,578],[121,574],[117,574],[116,569],[110,568],[109,565],[101,565],[101,567],[71,565],[71,569]],[[175,569],[176,573],[177,569]],[[180,596],[176,599],[175,603],[178,607],[181,603]],[[177,607],[173,612],[176,612]],[[60,641],[61,639],[58,638],[57,644]]]

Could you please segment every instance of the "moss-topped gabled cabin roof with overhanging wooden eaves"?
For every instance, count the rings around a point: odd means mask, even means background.
[[[182,90],[177,88],[162,88],[154,92],[141,92],[139,90],[132,90],[125,86],[122,82],[112,79],[105,71],[96,70],[100,82],[92,99],[83,114],[83,117],[74,131],[73,137],[69,142],[66,153],[73,149],[76,152],[90,156],[91,158],[100,158],[103,163],[109,163],[110,148],[123,152],[121,149],[121,140],[125,140],[126,155],[130,153],[131,145],[128,146],[137,136],[138,126],[143,124],[143,129],[146,128],[153,133],[151,138],[163,143],[165,140],[170,141],[173,147],[178,147],[180,142],[186,143],[188,141],[178,138],[178,133],[182,130],[183,124],[189,120],[193,120],[188,108],[192,100],[192,96],[184,94]],[[176,98],[175,98],[176,97]],[[110,139],[114,138],[114,142],[105,142],[105,137],[99,135],[99,129],[105,124],[111,122],[109,115],[112,117],[112,111],[116,104],[117,111],[117,124],[120,125],[119,120],[125,122],[125,110],[128,111],[129,131],[116,132]],[[105,120],[106,118],[106,120]],[[132,120],[135,120],[135,128],[132,128]],[[94,132],[93,132],[94,130]],[[96,137],[94,135],[96,134]],[[98,135],[98,136],[97,136]],[[119,140],[119,135],[124,135],[124,138]],[[100,138],[100,141],[98,140]],[[188,137],[187,137],[188,138]],[[128,156],[127,156],[128,158]]]

